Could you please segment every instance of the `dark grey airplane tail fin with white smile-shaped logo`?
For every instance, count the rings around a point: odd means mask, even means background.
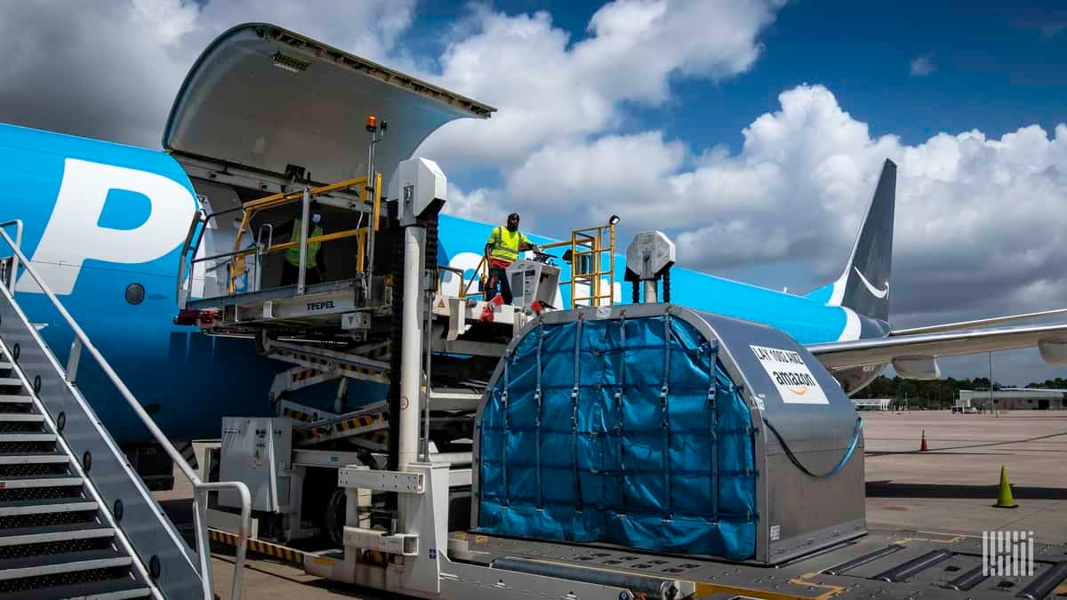
[[[896,204],[896,164],[889,159],[874,190],[853,255],[833,282],[827,304],[846,306],[861,315],[889,320],[889,280],[893,267],[893,210]]]

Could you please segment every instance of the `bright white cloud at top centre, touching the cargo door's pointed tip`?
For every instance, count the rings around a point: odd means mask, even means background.
[[[752,67],[778,1],[618,0],[572,40],[546,12],[478,9],[425,77],[499,109],[450,123],[423,152],[515,167],[545,145],[624,129],[624,105],[668,101],[672,77],[719,80]]]

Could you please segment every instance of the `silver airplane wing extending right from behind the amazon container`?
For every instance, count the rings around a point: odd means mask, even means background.
[[[1067,364],[1067,323],[891,334],[878,340],[813,344],[807,349],[831,370],[893,363],[898,372],[926,370],[933,376],[938,357],[1035,347],[1046,362]]]

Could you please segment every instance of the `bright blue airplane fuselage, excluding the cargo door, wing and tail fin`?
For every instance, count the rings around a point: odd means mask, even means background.
[[[172,323],[178,255],[198,208],[178,161],[163,152],[0,124],[0,221],[23,222],[22,252],[169,437],[217,437],[224,415],[271,413],[268,390],[286,364],[256,356],[251,342]],[[473,277],[493,226],[442,216],[439,262]],[[624,268],[617,257],[617,282]],[[446,289],[458,285],[445,282]],[[628,297],[616,285],[617,301]],[[818,294],[793,296],[681,268],[671,272],[671,290],[672,302],[765,323],[801,344],[889,330],[883,321],[827,305]],[[15,297],[65,360],[71,334],[25,274]],[[116,441],[146,439],[89,361],[82,361],[78,385]]]

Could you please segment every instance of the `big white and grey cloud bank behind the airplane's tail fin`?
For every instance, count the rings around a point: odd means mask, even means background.
[[[544,153],[531,156],[503,198],[529,196],[522,174],[554,168],[562,171],[551,192],[554,207],[584,198],[642,228],[672,231],[683,266],[716,271],[806,260],[826,282],[843,267],[890,158],[899,167],[895,321],[1067,305],[1067,214],[1060,209],[1067,200],[1067,125],[1052,132],[1021,127],[1000,139],[977,130],[939,133],[906,145],[895,136],[872,137],[825,86],[800,85],[779,101],[780,110],[744,129],[735,155],[680,156],[676,142],[657,131],[610,137],[550,153],[555,165]],[[644,165],[639,176],[609,185],[634,164]]]

